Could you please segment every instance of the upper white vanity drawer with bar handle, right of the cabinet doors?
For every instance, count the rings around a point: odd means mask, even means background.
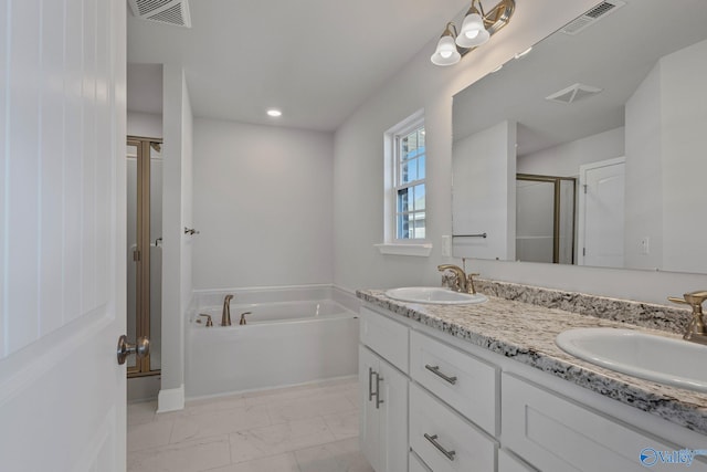
[[[498,432],[498,370],[423,334],[410,334],[410,376],[460,413]]]

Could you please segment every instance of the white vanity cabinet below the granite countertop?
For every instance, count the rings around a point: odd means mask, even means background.
[[[674,470],[685,464],[648,458],[644,465],[641,453],[707,443],[704,434],[379,310],[361,308],[359,347],[360,441],[377,472]],[[707,472],[706,459],[689,469]]]

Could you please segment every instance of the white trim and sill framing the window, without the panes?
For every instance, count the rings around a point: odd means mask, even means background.
[[[383,179],[384,179],[384,201],[383,201],[383,243],[373,244],[381,254],[393,255],[415,255],[429,256],[432,253],[432,243],[429,241],[429,233],[425,228],[425,239],[399,240],[395,239],[395,186],[394,162],[395,162],[395,136],[413,130],[424,124],[424,109],[413,113],[411,116],[388,129],[383,135]],[[428,159],[429,162],[429,159]],[[429,172],[425,169],[425,176]],[[428,204],[429,207],[429,204]]]

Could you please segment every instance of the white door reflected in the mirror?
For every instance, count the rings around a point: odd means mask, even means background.
[[[625,158],[580,167],[579,265],[623,268]]]

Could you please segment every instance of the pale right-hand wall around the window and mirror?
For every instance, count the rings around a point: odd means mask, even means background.
[[[452,96],[514,53],[593,7],[595,1],[518,2],[510,24],[456,66],[430,63],[431,41],[337,130],[335,139],[335,283],[348,290],[439,284],[440,242],[450,234]],[[383,239],[383,133],[424,108],[428,145],[430,258],[381,255]],[[636,272],[474,260],[483,276],[563,290],[663,302],[665,296],[707,287],[707,275]]]

